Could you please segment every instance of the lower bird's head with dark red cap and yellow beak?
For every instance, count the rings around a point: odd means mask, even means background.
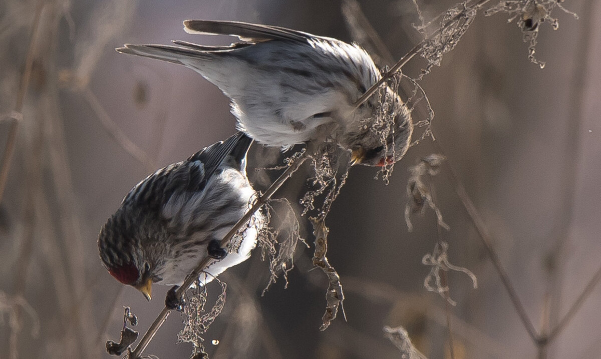
[[[154,276],[144,253],[135,246],[135,235],[127,234],[118,213],[112,216],[98,237],[98,248],[102,264],[109,274],[124,285],[138,289],[147,300],[151,299]],[[138,248],[138,249],[136,249]]]

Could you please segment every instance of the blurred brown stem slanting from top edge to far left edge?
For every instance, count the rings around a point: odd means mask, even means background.
[[[37,37],[37,31],[40,25],[41,10],[44,5],[44,0],[38,0],[35,6],[35,14],[33,25],[31,27],[31,35],[29,38],[29,48],[27,49],[27,56],[25,58],[25,70],[21,76],[19,82],[19,91],[17,91],[17,103],[14,106],[14,115],[12,116],[13,121],[8,128],[8,137],[6,146],[4,147],[4,154],[2,155],[2,162],[0,162],[0,202],[2,202],[2,195],[6,187],[6,181],[8,178],[8,170],[10,169],[10,163],[13,159],[14,146],[17,140],[17,130],[19,129],[19,122],[23,115],[23,102],[25,101],[25,94],[29,87],[29,78],[31,77],[31,67],[34,62],[34,48],[35,38]]]

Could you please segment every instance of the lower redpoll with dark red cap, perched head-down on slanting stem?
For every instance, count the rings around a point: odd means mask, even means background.
[[[201,275],[204,285],[245,261],[265,219],[251,225],[227,253],[219,241],[255,195],[246,177],[252,139],[239,132],[149,175],[127,194],[100,230],[100,258],[111,276],[150,300],[153,283],[181,285],[204,257],[221,259]],[[173,291],[173,289],[172,289]]]

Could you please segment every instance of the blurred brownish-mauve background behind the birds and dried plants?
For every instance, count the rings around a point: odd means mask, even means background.
[[[14,149],[0,202],[0,358],[109,358],[105,342],[118,341],[123,306],[138,316],[134,329],[143,333],[168,288],[155,286],[147,303],[112,279],[98,256],[100,226],[148,173],[234,133],[227,98],[200,75],[114,48],[234,41],[188,35],[185,19],[269,23],[359,41],[342,11],[353,4],[0,3],[0,153]],[[427,21],[453,2],[418,4]],[[478,14],[441,67],[421,81],[436,112],[439,148],[432,139],[412,146],[388,186],[373,180],[374,168],[350,170],[326,220],[328,259],[341,276],[347,320],[339,313],[319,331],[327,281],[321,271],[310,271],[313,248],[299,246],[288,288],[280,280],[263,297],[269,273],[257,251],[221,276],[227,303],[204,336],[212,358],[400,358],[385,325],[405,327],[430,359],[601,358],[601,287],[594,286],[601,265],[601,4],[562,4],[580,19],[556,9],[560,28],[540,25],[536,56],[546,61],[543,70],[528,61],[528,44],[508,16]],[[392,58],[421,41],[412,27],[420,22],[412,1],[359,5],[355,16],[371,24]],[[380,59],[390,65],[386,56]],[[424,66],[415,59],[403,72],[416,77]],[[546,346],[520,321],[447,165],[432,186],[450,231],[439,234],[430,210],[412,217],[413,231],[407,231],[407,169],[441,150],[474,202],[535,333],[552,332],[577,309]],[[278,151],[252,149],[249,176],[259,189],[275,172],[251,168],[277,157]],[[297,204],[307,189],[303,176],[276,197]],[[301,222],[313,247],[306,219]],[[465,274],[448,272],[454,307],[423,286],[430,267],[421,260],[439,240],[449,243],[452,264],[478,278],[474,289]],[[579,297],[581,306],[573,307]],[[180,316],[169,316],[145,354],[188,358],[191,345],[177,344],[181,328]]]

